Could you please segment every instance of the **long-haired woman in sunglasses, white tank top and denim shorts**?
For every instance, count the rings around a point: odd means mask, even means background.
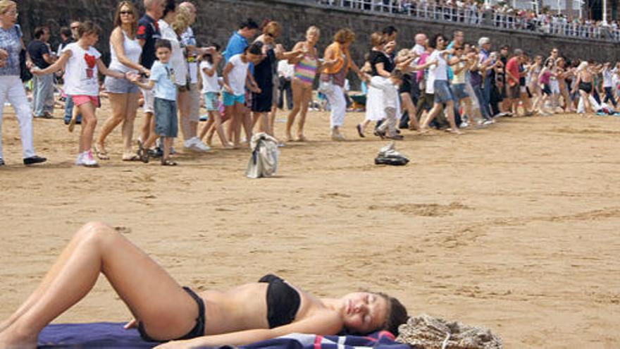
[[[136,38],[137,11],[131,1],[121,1],[114,15],[115,28],[110,36],[112,61],[109,69],[119,73],[141,73],[149,71],[138,63],[142,47]],[[106,90],[109,93],[112,116],[104,123],[94,151],[101,160],[109,159],[106,151],[106,137],[123,123],[123,161],[139,161],[140,157],[132,151],[133,123],[138,109],[140,89],[126,79],[107,76]]]

